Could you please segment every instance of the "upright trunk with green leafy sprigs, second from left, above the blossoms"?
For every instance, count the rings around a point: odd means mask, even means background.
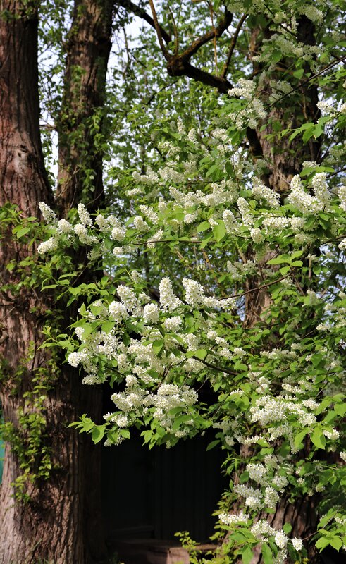
[[[112,10],[112,0],[75,1],[58,118],[56,199],[63,214],[80,202],[89,211],[103,204],[101,137]]]

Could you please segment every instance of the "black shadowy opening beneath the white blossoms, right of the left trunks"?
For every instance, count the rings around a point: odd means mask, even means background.
[[[223,453],[206,451],[214,434],[180,441],[171,449],[142,446],[133,436],[103,448],[103,507],[106,533],[113,539],[173,540],[189,531],[199,542],[213,532],[225,479]]]

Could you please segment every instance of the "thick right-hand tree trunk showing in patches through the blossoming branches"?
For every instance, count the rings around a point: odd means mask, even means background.
[[[314,23],[311,22],[306,16],[300,16],[298,21],[298,38],[304,44],[314,44]],[[266,36],[255,28],[252,30],[252,41],[250,51],[253,54],[259,51],[259,42],[261,37]],[[254,63],[254,72],[258,73],[261,69],[257,63]],[[310,72],[309,65],[305,66],[305,73]],[[312,74],[312,73],[311,73]],[[305,78],[305,77],[304,77]],[[265,88],[268,94],[271,93],[271,80],[280,80],[280,68],[276,68],[272,75],[267,75],[264,84],[261,84],[261,89]],[[304,79],[303,79],[304,80]],[[289,135],[278,137],[275,133],[275,122],[280,123],[281,130],[285,128],[299,128],[303,123],[308,121],[314,122],[319,118],[319,109],[316,104],[318,102],[318,91],[316,85],[308,82],[299,90],[302,99],[302,107],[292,109],[292,102],[290,98],[285,100],[282,104],[272,106],[269,118],[266,118],[268,125],[266,128],[261,128],[257,131],[259,142],[261,145],[261,152],[264,159],[268,163],[269,173],[266,175],[266,184],[275,192],[282,194],[290,190],[290,181],[293,176],[302,171],[303,161],[318,161],[319,151],[321,147],[321,139],[309,140],[304,145],[300,137],[296,137],[292,142],[289,141]],[[252,250],[248,252],[249,258],[252,258]],[[268,267],[267,262],[273,257],[273,252],[268,252],[262,259],[261,266]],[[273,269],[276,267],[273,266]],[[245,290],[253,289],[261,286],[263,280],[260,278],[249,278],[245,285]],[[265,318],[266,310],[271,306],[271,298],[267,288],[262,288],[258,291],[246,295],[245,300],[245,326],[252,327],[256,325],[261,318]],[[276,336],[273,331],[273,343],[276,337],[280,341],[280,336]],[[273,344],[273,346],[276,346]],[[248,453],[245,453],[248,455]],[[307,455],[307,453],[304,453]],[[292,525],[292,537],[309,538],[311,534],[316,531],[316,494],[314,496],[304,496],[302,499],[297,499],[294,504],[290,503],[289,496],[283,499],[276,513],[262,515],[262,518],[268,520],[272,527],[275,529],[282,529],[285,522]],[[319,556],[316,554],[314,547],[309,551],[309,562],[311,564],[318,563]],[[260,549],[255,551],[255,556],[251,564],[260,564],[262,562]],[[288,560],[290,562],[290,560]]]

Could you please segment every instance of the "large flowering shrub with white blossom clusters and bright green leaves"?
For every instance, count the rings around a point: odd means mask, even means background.
[[[237,11],[244,3],[228,4]],[[252,15],[264,6],[250,4]],[[293,4],[321,21],[321,3]],[[272,61],[280,48],[313,65],[316,49],[292,39],[288,13],[276,13],[281,31],[270,51],[264,40],[257,60]],[[345,81],[341,67],[335,76]],[[263,80],[239,80],[209,135],[179,119],[162,133],[166,162],[133,174],[124,220],[92,217],[83,204],[76,220],[59,220],[42,203],[49,238],[38,249],[85,248],[90,264],[104,268],[97,282],[56,281],[70,302],[84,300],[74,335],[58,341],[67,362],[82,369],[85,384],[115,386],[104,422],[84,415],[75,427],[106,445],[140,427],[149,447],[215,429],[210,447],[225,450],[230,475],[218,515],[223,554],[245,564],[254,551],[268,564],[302,561],[311,539],[295,535],[289,511],[276,521],[299,498],[316,510],[316,548],[346,546],[346,189],[333,168],[345,147],[319,164],[302,161],[285,191],[266,185],[271,164],[249,162],[243,149],[247,128],[273,123],[258,94]],[[289,103],[297,90],[270,85],[270,104]],[[326,104],[319,102],[326,116],[281,138],[301,135],[304,145],[327,123],[340,128],[340,90],[333,109]],[[204,401],[203,390],[213,399]]]

